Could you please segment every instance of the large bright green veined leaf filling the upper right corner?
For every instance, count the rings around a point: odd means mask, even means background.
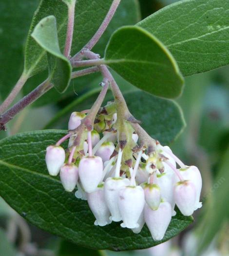
[[[184,76],[229,64],[229,1],[182,0],[137,23],[160,39]]]

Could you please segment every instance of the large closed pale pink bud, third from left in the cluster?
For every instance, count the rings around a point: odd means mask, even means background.
[[[85,157],[79,161],[79,178],[87,193],[96,190],[103,177],[103,162],[100,157]]]

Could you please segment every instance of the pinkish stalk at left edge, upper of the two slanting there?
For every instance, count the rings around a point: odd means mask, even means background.
[[[11,93],[8,95],[8,97],[0,105],[0,114],[2,114],[9,107],[9,105],[14,101],[14,99],[19,94],[19,91],[21,90],[21,88],[23,87],[23,85],[25,84],[27,79],[28,79],[28,77],[24,74],[22,74],[20,76],[18,82],[14,86]]]

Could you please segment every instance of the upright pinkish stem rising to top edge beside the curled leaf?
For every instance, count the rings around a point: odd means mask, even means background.
[[[75,18],[75,5],[76,0],[73,0],[71,4],[68,4],[68,27],[65,40],[64,55],[68,58],[71,53],[72,39],[74,32],[74,18]]]

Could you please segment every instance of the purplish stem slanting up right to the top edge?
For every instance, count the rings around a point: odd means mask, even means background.
[[[102,34],[104,33],[104,31],[106,30],[107,26],[109,25],[110,21],[112,20],[115,11],[119,5],[121,0],[113,0],[113,3],[105,17],[105,19],[103,20],[103,22],[101,23],[100,27],[98,28],[98,30],[96,31],[95,35],[93,36],[93,38],[82,48],[82,50],[91,50],[95,44],[97,43],[97,41],[101,38]],[[76,55],[72,58],[72,59],[80,59],[80,55],[82,54],[81,51],[79,51],[78,53],[76,53]]]

